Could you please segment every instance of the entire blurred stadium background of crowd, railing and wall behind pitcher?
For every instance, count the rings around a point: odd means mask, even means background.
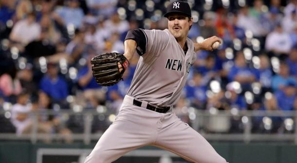
[[[111,87],[96,84],[91,58],[124,52],[131,29],[166,29],[169,2],[0,0],[0,162],[82,163],[118,113],[139,56]],[[296,163],[297,0],[188,2],[188,37],[223,44],[197,52],[174,112],[230,163]],[[137,151],[116,163],[187,163]]]

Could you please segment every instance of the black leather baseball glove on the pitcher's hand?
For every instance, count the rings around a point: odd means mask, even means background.
[[[120,72],[118,63],[123,67]],[[111,86],[123,80],[122,76],[129,65],[127,58],[120,53],[104,53],[92,58],[93,77],[102,86]]]

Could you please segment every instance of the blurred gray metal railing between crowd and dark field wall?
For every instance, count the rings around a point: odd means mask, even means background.
[[[58,115],[57,115],[58,113]],[[45,136],[62,140],[58,132],[37,133],[38,115],[31,113],[33,129],[29,134],[17,135],[11,130],[10,111],[0,110],[0,140],[30,140],[36,143]],[[115,119],[115,114],[99,113],[98,110],[60,110],[42,112],[42,115],[59,116],[61,126],[72,130],[73,140],[90,144],[96,141]],[[240,111],[230,109],[219,111],[215,108],[197,110],[188,108],[188,124],[209,141],[284,141],[297,144],[297,111]],[[8,128],[11,126],[11,128]],[[7,130],[4,130],[7,129]]]

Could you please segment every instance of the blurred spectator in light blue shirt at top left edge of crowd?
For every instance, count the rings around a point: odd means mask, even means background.
[[[78,0],[66,0],[66,5],[56,8],[52,14],[53,18],[64,27],[73,26],[78,29],[82,25],[84,12],[79,8]]]

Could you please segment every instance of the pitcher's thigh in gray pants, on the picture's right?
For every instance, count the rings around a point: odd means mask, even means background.
[[[160,132],[156,145],[194,163],[226,163],[201,134],[181,121]]]

